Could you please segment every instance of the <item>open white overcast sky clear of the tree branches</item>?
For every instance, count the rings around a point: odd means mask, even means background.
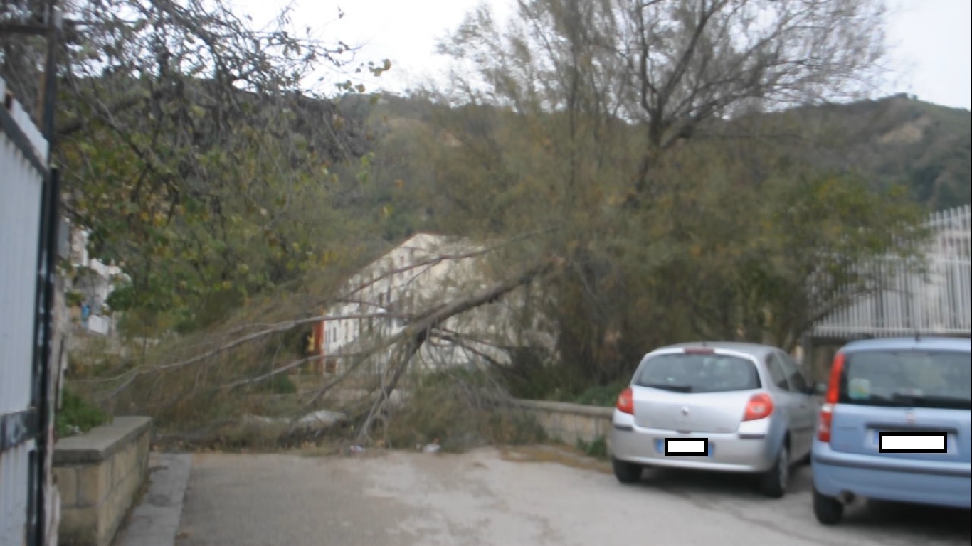
[[[230,0],[257,20],[267,20],[286,0]],[[369,90],[400,92],[441,73],[448,59],[435,43],[456,28],[480,1],[493,4],[498,18],[511,13],[510,0],[302,0],[294,23],[324,38],[363,46],[359,58],[390,58],[393,69],[378,80],[362,78]],[[886,63],[893,70],[885,92],[915,93],[921,100],[972,109],[972,2],[890,0]],[[338,8],[344,17],[337,19]]]

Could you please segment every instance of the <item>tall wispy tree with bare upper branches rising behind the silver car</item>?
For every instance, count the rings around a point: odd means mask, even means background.
[[[551,228],[534,251],[564,259],[546,312],[580,381],[689,336],[792,345],[846,304],[838,286],[873,288],[851,264],[920,219],[893,190],[817,169],[805,152],[826,128],[757,116],[866,92],[882,2],[518,8],[506,24],[478,9],[441,47],[457,144],[436,155],[434,193],[444,225]]]

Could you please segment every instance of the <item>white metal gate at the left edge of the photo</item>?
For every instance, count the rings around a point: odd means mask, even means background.
[[[0,97],[6,97],[0,80]],[[16,101],[0,107],[0,544],[26,544],[36,495],[34,321],[48,143]]]

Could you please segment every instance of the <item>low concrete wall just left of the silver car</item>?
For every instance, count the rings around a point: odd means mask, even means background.
[[[613,408],[539,400],[517,400],[517,404],[534,415],[552,440],[569,446],[577,445],[577,440],[587,444],[609,440]]]

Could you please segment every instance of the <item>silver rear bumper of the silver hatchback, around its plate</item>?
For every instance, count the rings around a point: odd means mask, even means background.
[[[612,456],[619,461],[651,466],[694,468],[721,472],[762,472],[772,466],[779,441],[768,430],[743,433],[680,434],[674,430],[638,427],[631,419],[615,418],[610,432]],[[712,456],[666,456],[655,442],[664,438],[708,438]]]

